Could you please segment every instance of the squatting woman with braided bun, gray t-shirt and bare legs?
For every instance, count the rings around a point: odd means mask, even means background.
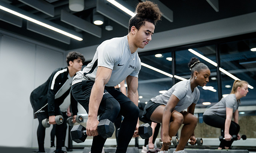
[[[167,153],[172,136],[175,136],[181,127],[179,145],[173,153],[186,153],[184,148],[188,139],[190,144],[196,144],[194,129],[197,125],[197,117],[194,116],[196,103],[200,97],[197,86],[205,86],[209,82],[210,70],[196,57],[188,63],[191,77],[186,81],[180,81],[172,86],[166,93],[153,97],[146,104],[143,118],[153,122],[162,123],[163,146],[158,153]],[[187,111],[184,109],[187,108]],[[174,141],[174,140],[173,140]]]

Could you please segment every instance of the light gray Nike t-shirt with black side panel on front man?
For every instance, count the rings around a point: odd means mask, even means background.
[[[129,75],[138,78],[141,59],[137,51],[131,54],[127,35],[105,40],[97,47],[91,63],[84,67],[83,71],[76,72],[72,85],[88,79],[95,81],[98,66],[112,70],[111,77],[105,86],[116,86]]]

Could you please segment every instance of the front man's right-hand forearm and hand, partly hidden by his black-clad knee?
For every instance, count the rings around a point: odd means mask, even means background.
[[[127,83],[127,97],[131,99],[132,102],[136,106],[138,106],[138,101],[139,101],[139,94],[138,94],[138,78],[128,76],[126,78],[126,83]],[[139,118],[136,126],[136,132],[134,133],[133,137],[138,137],[138,127],[139,127]]]

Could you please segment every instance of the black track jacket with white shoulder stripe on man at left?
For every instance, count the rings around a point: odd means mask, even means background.
[[[34,113],[37,113],[42,108],[48,105],[49,116],[55,115],[54,108],[60,106],[64,99],[70,93],[71,109],[72,114],[77,115],[77,102],[74,99],[72,92],[70,92],[71,85],[68,91],[66,91],[62,96],[55,99],[56,93],[67,81],[69,75],[68,67],[57,68],[52,72],[49,79],[38,88],[32,91],[30,95],[30,102],[34,109]]]

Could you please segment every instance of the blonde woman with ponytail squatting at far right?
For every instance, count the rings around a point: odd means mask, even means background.
[[[248,82],[235,80],[231,93],[204,112],[203,120],[206,124],[225,129],[225,141],[221,141],[218,149],[230,149],[233,143],[232,135],[237,135],[238,139],[241,138],[238,134],[240,130],[238,125],[238,105],[240,98],[245,97],[248,92]],[[233,121],[232,116],[234,118]]]

